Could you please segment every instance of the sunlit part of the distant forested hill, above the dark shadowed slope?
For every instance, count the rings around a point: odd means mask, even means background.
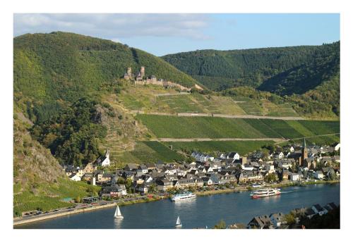
[[[209,85],[208,87],[220,90],[244,85],[258,87],[265,80],[276,76],[280,79],[292,73],[292,69],[303,70],[302,66],[309,66],[309,64],[311,67],[321,66],[325,61],[331,61],[330,57],[333,56],[338,58],[339,62],[339,49],[340,42],[335,42],[322,46],[190,51],[170,54],[162,58],[179,70],[193,75],[205,85]],[[308,69],[313,70],[313,68]],[[303,75],[298,73],[296,78],[302,77]]]

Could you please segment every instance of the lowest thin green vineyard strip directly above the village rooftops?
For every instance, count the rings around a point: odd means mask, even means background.
[[[164,144],[168,146],[172,145],[174,150],[202,151],[204,153],[210,153],[213,151],[237,151],[241,155],[248,154],[251,151],[261,149],[264,145],[273,143],[273,141],[164,142]]]

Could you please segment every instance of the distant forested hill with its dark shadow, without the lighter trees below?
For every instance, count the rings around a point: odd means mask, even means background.
[[[201,50],[162,58],[214,90],[251,86],[303,94],[337,74],[340,42],[232,51]],[[299,85],[304,85],[298,88]]]

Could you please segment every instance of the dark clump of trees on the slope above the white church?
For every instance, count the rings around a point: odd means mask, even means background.
[[[81,98],[49,120],[35,124],[31,134],[59,163],[82,166],[101,155],[99,141],[107,135],[103,112],[97,101]]]

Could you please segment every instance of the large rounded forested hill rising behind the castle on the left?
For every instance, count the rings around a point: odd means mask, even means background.
[[[15,102],[39,120],[56,114],[66,102],[96,94],[145,66],[145,75],[173,80],[184,86],[196,81],[157,56],[124,44],[67,32],[27,34],[13,39]]]

